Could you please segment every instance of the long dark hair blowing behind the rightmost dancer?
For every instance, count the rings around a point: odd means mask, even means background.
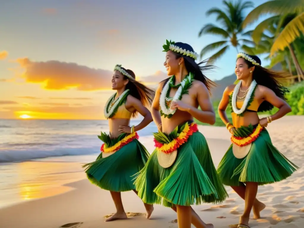
[[[266,69],[261,66],[261,60],[256,55],[248,55],[251,58],[253,58],[257,63],[260,65],[254,65],[250,61],[245,60],[246,64],[248,65],[248,68],[254,66],[254,71],[252,73],[252,79],[254,79],[258,85],[263,85],[267,88],[270,88],[275,95],[277,95],[279,98],[282,98],[283,100],[286,100],[285,97],[286,93],[289,92],[289,90],[284,87],[280,81],[284,80],[286,77],[290,76],[288,72],[285,71],[273,71],[270,69]],[[240,57],[242,58],[242,57]],[[273,109],[273,105],[270,104],[268,101],[263,101],[259,108],[257,109],[258,112],[265,112]]]

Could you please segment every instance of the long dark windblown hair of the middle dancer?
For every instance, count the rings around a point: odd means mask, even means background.
[[[174,45],[176,45],[178,47],[181,47],[182,49],[186,49],[186,50],[194,52],[193,48],[187,43],[178,42],[178,43],[175,43]],[[192,58],[192,57],[185,56],[185,55],[182,55],[182,54],[174,52],[174,51],[172,51],[172,53],[175,55],[176,59],[178,59],[180,57],[184,58],[186,70],[189,73],[192,72],[194,74],[194,79],[195,80],[198,80],[198,81],[201,81],[202,83],[204,83],[206,85],[208,91],[209,91],[209,94],[211,94],[210,90],[211,90],[212,86],[216,86],[216,83],[211,81],[209,78],[207,78],[203,74],[203,71],[212,70],[216,67],[213,66],[213,65],[209,65],[209,64],[205,65],[205,66],[202,66],[202,64],[206,64],[208,62],[208,59],[203,60],[202,62],[197,64],[195,62],[195,59]],[[167,79],[164,80],[165,81],[164,85],[166,85],[166,83],[169,79],[170,78],[167,78]]]

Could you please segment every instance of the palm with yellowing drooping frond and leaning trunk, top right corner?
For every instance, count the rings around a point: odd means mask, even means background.
[[[252,33],[253,40],[257,43],[259,35],[265,27],[267,27],[269,23],[277,21],[278,27],[275,40],[271,45],[270,56],[273,56],[279,50],[285,50],[287,47],[295,64],[299,81],[301,78],[304,79],[304,72],[292,47],[292,42],[302,36],[304,32],[304,0],[272,0],[265,2],[248,14],[244,20],[243,27],[249,25],[258,19],[259,16],[266,13],[276,13],[277,15],[264,20],[256,27]]]

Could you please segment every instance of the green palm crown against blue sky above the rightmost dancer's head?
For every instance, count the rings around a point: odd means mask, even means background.
[[[248,46],[246,44],[253,44],[251,40],[238,39],[239,35],[248,36],[248,33],[243,33],[242,23],[244,20],[244,10],[248,8],[253,8],[253,2],[246,1],[242,2],[239,0],[237,3],[232,1],[223,1],[225,5],[224,11],[219,8],[212,8],[206,12],[206,16],[216,15],[216,21],[220,23],[220,26],[214,24],[206,24],[200,31],[199,37],[204,34],[215,34],[223,38],[223,40],[211,43],[204,47],[200,53],[202,58],[207,52],[221,48],[218,52],[210,57],[210,60],[216,60],[221,57],[229,48],[233,46],[238,52],[238,47],[240,47],[240,42],[243,43],[242,49],[246,49]]]

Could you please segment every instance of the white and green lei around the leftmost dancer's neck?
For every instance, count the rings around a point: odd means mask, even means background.
[[[114,93],[109,100],[105,103],[105,108],[103,110],[105,118],[111,118],[117,112],[117,109],[120,105],[126,102],[127,96],[129,95],[130,90],[126,89],[118,98],[115,98],[116,93]]]

